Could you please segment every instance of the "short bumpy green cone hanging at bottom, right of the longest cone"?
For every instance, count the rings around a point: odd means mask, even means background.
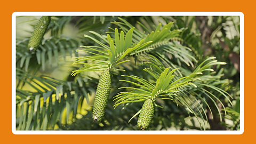
[[[143,103],[137,123],[139,130],[148,130],[148,126],[154,115],[154,110],[155,102],[153,100],[148,99]]]

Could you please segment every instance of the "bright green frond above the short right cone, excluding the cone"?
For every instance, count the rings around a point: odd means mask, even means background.
[[[151,99],[171,99],[171,100],[174,100],[174,102],[180,101],[182,105],[185,106],[188,113],[194,114],[196,118],[198,114],[200,118],[202,119],[206,118],[207,120],[207,116],[206,116],[205,110],[203,109],[203,105],[206,105],[207,107],[209,107],[209,105],[202,98],[202,96],[195,93],[195,91],[199,90],[202,93],[206,94],[206,96],[209,97],[213,102],[215,102],[214,99],[216,99],[222,104],[219,98],[215,97],[213,94],[205,90],[204,87],[202,86],[210,87],[212,90],[215,90],[221,93],[223,96],[225,96],[229,100],[229,98],[227,97],[227,95],[229,95],[228,93],[224,92],[223,90],[219,89],[214,85],[203,84],[201,79],[199,78],[200,77],[199,75],[202,75],[203,71],[212,71],[212,69],[209,68],[212,65],[225,64],[225,62],[217,62],[216,60],[208,62],[209,60],[212,60],[212,59],[214,59],[214,57],[210,57],[206,59],[193,71],[193,73],[189,74],[187,77],[178,76],[176,78],[172,74],[177,69],[173,69],[170,73],[167,73],[167,71],[170,68],[162,70],[164,68],[163,65],[160,65],[157,61],[154,62],[153,59],[149,59],[152,65],[149,65],[149,62],[144,62],[143,65],[150,66],[153,69],[145,68],[144,70],[147,71],[149,75],[155,77],[156,81],[154,81],[153,83],[148,83],[145,79],[135,77],[135,76],[127,76],[134,79],[137,82],[126,81],[126,80],[121,80],[121,81],[134,84],[138,86],[138,88],[121,87],[120,89],[125,88],[125,89],[131,89],[132,91],[121,92],[118,95],[116,95],[116,98],[114,100],[117,100],[117,101],[114,107],[121,105],[122,103],[140,102],[150,98]],[[205,62],[207,63],[204,65]],[[204,80],[204,81],[207,81],[207,80]],[[195,95],[197,98],[191,95]],[[220,114],[220,110],[217,104],[215,104],[215,107],[218,109]],[[209,109],[211,110],[210,107]],[[198,118],[197,120],[201,124]],[[206,123],[204,123],[204,129],[205,129],[205,126],[206,126]]]

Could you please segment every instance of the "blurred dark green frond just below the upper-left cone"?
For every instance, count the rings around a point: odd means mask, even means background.
[[[70,57],[78,57],[76,49],[81,45],[81,42],[70,38],[58,38],[49,37],[43,39],[39,49],[35,53],[30,53],[26,49],[29,39],[24,39],[23,41],[17,42],[16,49],[16,63],[17,67],[25,68],[28,71],[29,68],[34,68],[36,66],[42,66],[45,70],[46,60],[49,60],[50,66],[52,66],[53,61],[59,61],[59,53],[61,53],[64,60],[66,60],[66,53],[69,53]]]

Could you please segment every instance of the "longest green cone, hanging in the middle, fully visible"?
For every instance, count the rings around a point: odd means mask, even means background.
[[[111,90],[111,78],[112,75],[108,68],[104,70],[100,76],[92,111],[92,119],[95,123],[101,122],[104,117]]]

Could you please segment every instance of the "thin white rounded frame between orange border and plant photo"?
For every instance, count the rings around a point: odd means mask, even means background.
[[[177,15],[177,16],[240,16],[240,131],[17,131],[15,108],[15,40],[16,17],[19,15]],[[244,14],[242,12],[14,12],[12,14],[12,132],[13,134],[243,134],[244,133]]]

